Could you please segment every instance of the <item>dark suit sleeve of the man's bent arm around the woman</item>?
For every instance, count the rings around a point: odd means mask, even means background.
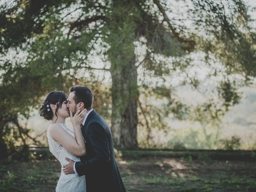
[[[76,162],[75,168],[79,176],[85,175],[86,172],[93,170],[99,165],[110,162],[108,137],[104,128],[98,123],[91,123],[88,126],[87,134],[96,156],[89,160]]]

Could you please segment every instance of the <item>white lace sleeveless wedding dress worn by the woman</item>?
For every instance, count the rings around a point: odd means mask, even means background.
[[[66,124],[58,123],[66,132],[75,137],[74,132],[72,132],[69,128],[67,128]],[[50,152],[58,159],[61,164],[61,168],[63,165],[68,164],[68,161],[65,158],[70,158],[74,161],[80,161],[80,158],[68,152],[64,147],[62,147],[58,142],[53,140],[49,134],[49,130],[47,131],[48,143],[50,147]],[[62,172],[60,178],[58,180],[58,184],[56,186],[56,192],[86,192],[85,185],[85,176],[76,176],[76,174],[68,174],[65,175]]]

